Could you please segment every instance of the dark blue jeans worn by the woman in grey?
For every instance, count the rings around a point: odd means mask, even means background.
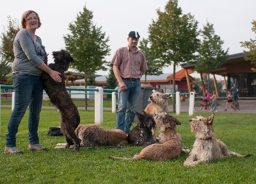
[[[18,127],[28,106],[29,144],[38,144],[39,138],[37,131],[44,91],[41,76],[24,73],[13,74],[13,87],[15,92],[15,104],[8,122],[6,146],[16,146],[16,134],[18,132]]]

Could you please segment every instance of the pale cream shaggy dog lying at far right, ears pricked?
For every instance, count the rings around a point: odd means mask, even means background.
[[[236,155],[237,157],[248,157],[239,153],[230,152],[227,146],[214,136],[212,127],[214,114],[204,118],[197,116],[189,120],[191,132],[196,132],[196,139],[189,157],[185,160],[184,166],[196,166],[200,162],[208,163],[213,159],[221,159]]]

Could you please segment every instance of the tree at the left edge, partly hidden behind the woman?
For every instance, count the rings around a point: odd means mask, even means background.
[[[11,72],[12,62],[14,60],[13,55],[13,41],[17,32],[19,32],[18,20],[10,17],[8,18],[7,29],[4,28],[4,32],[1,33],[1,45],[0,45],[0,80],[6,81],[7,75]],[[11,82],[11,83],[10,83]],[[8,83],[12,84],[12,81],[8,80]]]

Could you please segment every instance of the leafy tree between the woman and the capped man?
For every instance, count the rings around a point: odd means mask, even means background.
[[[68,25],[70,34],[63,37],[66,49],[75,60],[71,67],[84,72],[85,87],[88,82],[87,78],[91,77],[95,71],[107,69],[104,66],[105,56],[110,54],[109,45],[107,45],[109,37],[105,38],[106,33],[102,32],[102,27],[93,25],[92,18],[93,12],[84,6],[83,12],[79,11],[76,20]],[[85,100],[87,101],[87,97]]]

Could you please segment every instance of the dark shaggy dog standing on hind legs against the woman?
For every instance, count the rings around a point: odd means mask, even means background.
[[[74,151],[79,151],[79,145],[81,140],[77,138],[75,129],[80,123],[79,112],[76,105],[73,103],[65,87],[65,71],[68,70],[70,62],[74,62],[74,59],[69,52],[60,50],[58,52],[52,52],[54,63],[49,64],[49,67],[61,73],[61,82],[52,80],[49,74],[42,73],[42,81],[44,90],[49,96],[51,103],[58,108],[61,114],[61,132],[65,136],[67,145],[74,145]]]

